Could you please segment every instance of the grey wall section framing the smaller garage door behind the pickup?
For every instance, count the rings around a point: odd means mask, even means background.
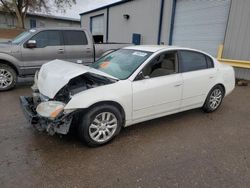
[[[86,14],[84,16],[81,16],[81,26],[90,30],[90,18],[93,16],[104,14],[104,38],[103,40],[106,41],[106,22],[107,22],[107,9],[102,9],[99,11],[95,11],[93,13]]]

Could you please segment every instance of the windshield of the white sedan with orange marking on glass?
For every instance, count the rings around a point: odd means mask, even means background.
[[[124,80],[131,76],[151,54],[151,52],[121,49],[104,56],[91,67]]]

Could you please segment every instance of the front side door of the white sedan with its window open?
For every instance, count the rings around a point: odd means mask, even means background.
[[[164,52],[149,62],[132,83],[133,120],[160,117],[180,108],[182,77],[176,51]]]

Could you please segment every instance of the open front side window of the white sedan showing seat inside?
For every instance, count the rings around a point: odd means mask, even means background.
[[[177,70],[177,52],[172,51],[155,57],[142,69],[142,73],[144,78],[155,78],[175,74]]]

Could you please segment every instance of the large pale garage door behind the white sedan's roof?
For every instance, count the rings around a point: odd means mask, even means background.
[[[172,44],[216,56],[224,41],[230,0],[177,0]]]

